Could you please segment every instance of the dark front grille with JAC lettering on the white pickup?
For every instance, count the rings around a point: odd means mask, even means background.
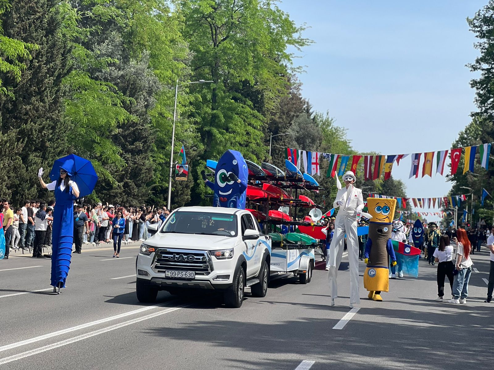
[[[211,256],[207,251],[159,248],[151,265],[153,271],[196,271],[196,275],[209,275],[213,270]]]

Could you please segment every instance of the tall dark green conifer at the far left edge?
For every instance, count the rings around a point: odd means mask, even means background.
[[[20,81],[2,76],[15,98],[0,96],[0,194],[17,203],[38,195],[38,168],[49,170],[65,153],[62,79],[70,50],[59,34],[57,5],[56,0],[13,0],[10,11],[1,15],[6,37],[39,46],[24,62]]]

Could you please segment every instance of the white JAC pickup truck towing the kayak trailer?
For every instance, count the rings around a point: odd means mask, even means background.
[[[136,261],[137,299],[154,302],[158,291],[221,291],[240,307],[244,289],[266,295],[271,237],[250,212],[235,208],[182,207],[142,243]]]

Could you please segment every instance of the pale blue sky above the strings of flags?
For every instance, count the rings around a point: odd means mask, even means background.
[[[284,0],[279,6],[297,25],[306,23],[303,36],[315,41],[295,60],[305,66],[303,96],[347,128],[356,150],[401,154],[449,149],[469,123],[475,75],[465,65],[478,52],[466,17],[486,3]],[[409,156],[393,168],[408,196],[450,190],[442,176],[409,180],[410,165]]]

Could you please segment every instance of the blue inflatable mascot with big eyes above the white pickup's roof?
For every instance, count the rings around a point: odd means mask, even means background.
[[[206,180],[204,173],[203,178]],[[247,181],[247,163],[242,154],[237,150],[225,151],[216,165],[214,183],[206,180],[214,191],[213,206],[245,209]]]

